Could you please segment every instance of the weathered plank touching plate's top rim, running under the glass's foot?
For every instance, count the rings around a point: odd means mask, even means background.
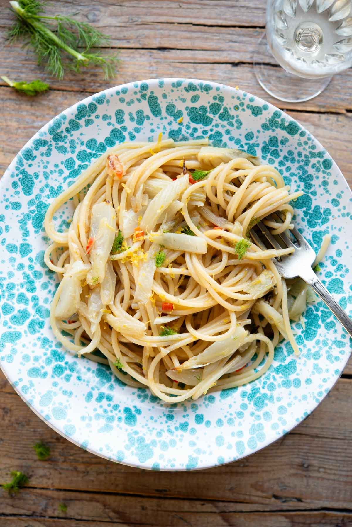
[[[254,43],[258,37],[253,33],[251,38]],[[247,44],[241,43],[240,46],[246,50],[246,62],[251,63],[252,57]],[[281,109],[291,108],[320,112],[345,112],[352,109],[352,98],[350,97],[351,69],[335,75],[327,89],[315,99],[304,103],[284,103],[273,99],[262,89],[256,81],[251,64],[232,64],[240,59],[237,53],[229,54],[226,50],[210,54],[201,50],[183,50],[180,52],[177,50],[125,49],[121,50],[120,59],[115,79],[105,81],[98,69],[92,69],[84,71],[81,75],[68,71],[65,78],[60,81],[52,79],[45,74],[42,67],[37,66],[35,57],[30,50],[24,51],[18,46],[0,49],[2,72],[10,78],[28,80],[40,77],[55,90],[84,91],[89,94],[135,80],[155,79],[157,77],[186,77],[220,82],[230,86],[238,85],[242,90],[258,95]],[[272,67],[273,74],[278,71],[281,72],[280,69]],[[4,85],[1,79],[0,85]],[[79,94],[75,94],[75,96],[78,98]]]

